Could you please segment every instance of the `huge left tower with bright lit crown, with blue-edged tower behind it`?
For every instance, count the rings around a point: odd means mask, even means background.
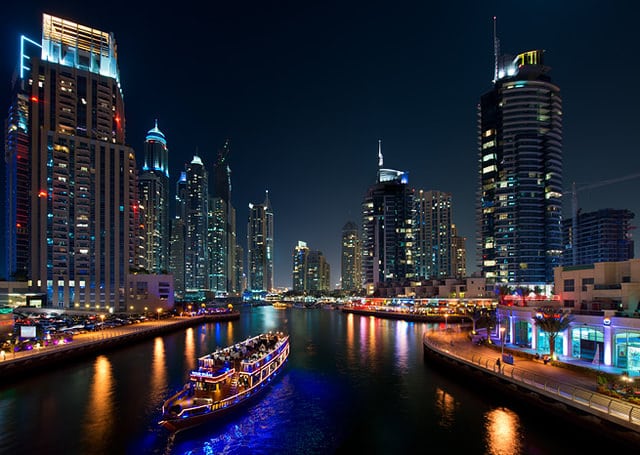
[[[126,308],[137,185],[113,34],[49,14],[9,111],[8,274],[54,307]]]

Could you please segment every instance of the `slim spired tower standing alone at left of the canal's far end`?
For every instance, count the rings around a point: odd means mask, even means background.
[[[269,192],[264,203],[249,204],[247,226],[247,288],[269,292],[273,280],[273,211]]]

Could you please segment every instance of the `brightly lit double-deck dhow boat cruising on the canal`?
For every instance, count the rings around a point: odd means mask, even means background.
[[[289,357],[289,336],[262,333],[198,359],[189,382],[162,405],[160,425],[172,432],[200,425],[257,395]]]

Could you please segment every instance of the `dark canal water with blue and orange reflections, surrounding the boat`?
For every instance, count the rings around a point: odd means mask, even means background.
[[[336,310],[243,308],[237,321],[202,324],[0,388],[0,453],[511,455],[601,445],[570,421],[425,364],[422,334],[440,328]],[[291,354],[259,400],[176,437],[157,425],[163,400],[182,387],[198,356],[268,330],[291,335]]]

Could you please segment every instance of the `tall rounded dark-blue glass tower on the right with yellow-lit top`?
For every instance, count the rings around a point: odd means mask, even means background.
[[[478,265],[487,283],[550,283],[562,254],[560,89],[541,50],[502,61],[478,105]]]

